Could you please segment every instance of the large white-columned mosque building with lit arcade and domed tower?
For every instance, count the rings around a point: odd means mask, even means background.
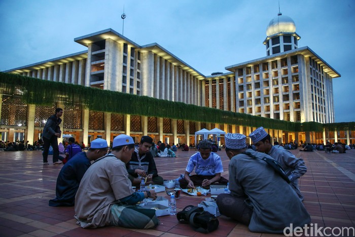
[[[294,21],[279,13],[266,30],[265,57],[226,66],[228,73],[205,76],[159,44],[141,46],[110,28],[74,39],[87,47],[85,51],[6,73],[270,119],[334,123],[332,80],[340,74],[309,47],[299,48],[300,38]],[[195,131],[202,128],[218,127],[246,135],[253,129],[240,124],[92,111],[60,101],[52,106],[27,105],[5,94],[0,101],[2,140],[19,138],[30,144],[40,138],[47,118],[56,107],[64,109],[61,125],[64,136],[73,136],[85,144],[96,137],[110,142],[120,133],[130,134],[136,141],[148,134],[156,142],[194,144]],[[349,144],[349,139],[355,138],[351,131],[316,133],[275,128],[268,132],[274,141],[283,143],[342,140]]]

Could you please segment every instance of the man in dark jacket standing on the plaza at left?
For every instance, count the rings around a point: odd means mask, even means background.
[[[52,145],[53,148],[53,164],[61,164],[59,160],[59,149],[58,149],[58,138],[60,138],[60,128],[61,123],[60,117],[63,115],[63,109],[55,109],[55,114],[48,118],[45,127],[42,132],[43,139],[43,165],[48,164],[48,151],[49,147]]]

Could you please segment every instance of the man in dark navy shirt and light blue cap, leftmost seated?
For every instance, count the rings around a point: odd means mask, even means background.
[[[74,206],[75,194],[91,161],[104,156],[107,150],[107,141],[98,138],[91,142],[87,152],[79,152],[68,160],[59,172],[55,188],[56,197],[49,200],[49,206]]]

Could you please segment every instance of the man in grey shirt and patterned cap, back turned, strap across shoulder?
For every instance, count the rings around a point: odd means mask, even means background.
[[[217,197],[222,215],[248,226],[252,232],[283,233],[310,223],[310,216],[291,186],[262,158],[270,156],[246,149],[245,136],[227,133],[230,194]],[[245,153],[244,153],[245,152]]]

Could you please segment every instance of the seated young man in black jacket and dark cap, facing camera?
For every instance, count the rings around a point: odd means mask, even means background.
[[[149,136],[143,136],[139,142],[139,148],[135,148],[131,160],[127,163],[128,178],[132,185],[138,186],[141,182],[139,177],[146,178],[146,185],[163,185],[164,179],[158,176],[157,166],[150,149],[153,139]]]

